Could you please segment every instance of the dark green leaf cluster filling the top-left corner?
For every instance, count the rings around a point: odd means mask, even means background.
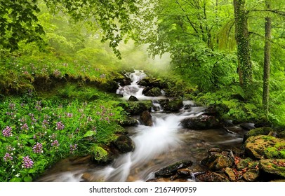
[[[39,25],[37,0],[0,1],[0,48],[17,50],[18,43],[41,41],[44,29]]]

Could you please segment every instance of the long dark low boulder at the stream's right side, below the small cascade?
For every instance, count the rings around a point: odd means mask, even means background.
[[[181,121],[184,128],[191,130],[210,130],[223,127],[215,116],[201,115],[194,118],[185,118]]]

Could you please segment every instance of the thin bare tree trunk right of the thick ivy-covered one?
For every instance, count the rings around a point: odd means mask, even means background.
[[[265,6],[270,10],[270,1],[265,1]],[[266,117],[269,112],[269,79],[270,79],[270,50],[271,50],[271,18],[265,18],[265,45],[264,45],[264,68],[263,68],[263,107]]]

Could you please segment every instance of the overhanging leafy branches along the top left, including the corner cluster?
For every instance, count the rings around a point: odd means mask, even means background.
[[[44,29],[37,23],[41,0],[0,0],[0,45],[17,50],[20,41],[41,41]],[[72,19],[91,22],[102,29],[102,41],[110,41],[110,47],[120,57],[119,43],[131,36],[131,16],[138,12],[141,0],[43,0],[54,12],[68,13]]]

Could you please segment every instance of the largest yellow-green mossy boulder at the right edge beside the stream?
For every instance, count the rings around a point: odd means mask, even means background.
[[[253,159],[285,158],[285,140],[272,136],[249,137],[245,143],[245,151]]]

